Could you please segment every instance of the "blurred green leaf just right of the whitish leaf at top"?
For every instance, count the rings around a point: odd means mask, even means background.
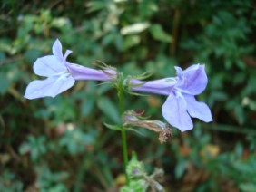
[[[160,24],[151,25],[150,32],[155,40],[167,43],[172,42],[172,36],[164,32]]]

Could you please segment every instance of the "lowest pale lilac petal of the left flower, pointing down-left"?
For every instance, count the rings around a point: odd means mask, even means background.
[[[34,80],[27,85],[24,97],[29,100],[47,96],[55,97],[73,85],[74,79],[71,75],[66,78],[49,77],[45,80]]]

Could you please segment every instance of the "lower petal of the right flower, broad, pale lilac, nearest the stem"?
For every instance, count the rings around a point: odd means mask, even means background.
[[[187,112],[186,102],[182,95],[176,96],[171,93],[162,105],[162,116],[173,127],[178,128],[182,132],[192,130],[192,119]]]

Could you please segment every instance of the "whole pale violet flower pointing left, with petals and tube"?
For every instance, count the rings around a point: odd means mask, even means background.
[[[34,73],[47,77],[45,80],[30,82],[25,90],[25,98],[36,99],[46,96],[55,97],[74,85],[75,80],[113,81],[115,70],[94,70],[66,61],[72,51],[67,50],[64,55],[62,44],[57,39],[53,45],[53,55],[38,58],[34,62]]]

